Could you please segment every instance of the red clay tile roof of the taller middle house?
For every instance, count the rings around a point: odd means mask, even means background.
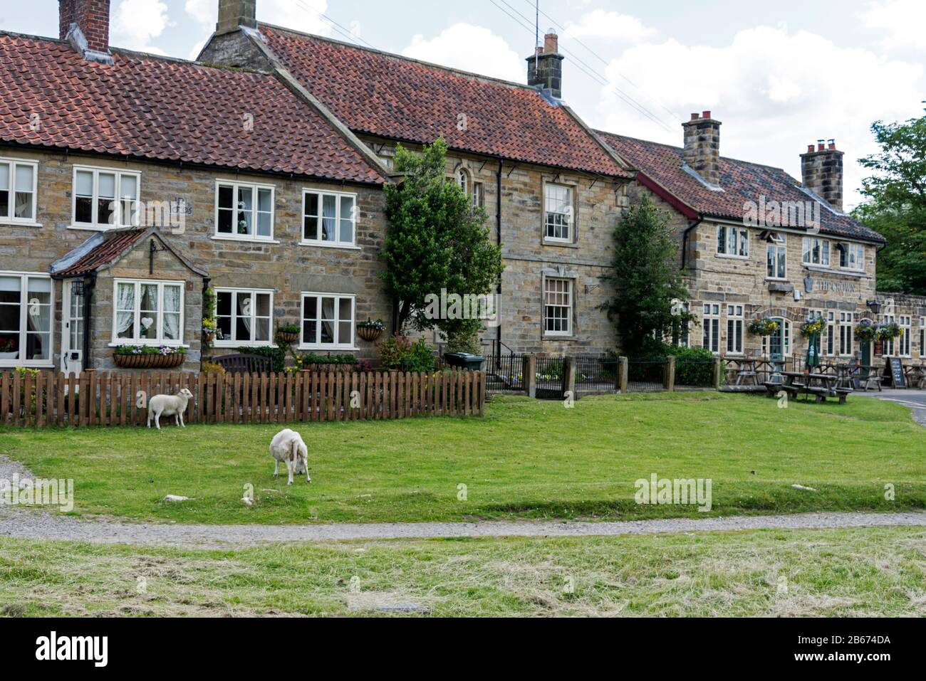
[[[630,177],[569,111],[533,88],[261,25],[282,66],[355,132]],[[461,115],[467,130],[459,130]]]

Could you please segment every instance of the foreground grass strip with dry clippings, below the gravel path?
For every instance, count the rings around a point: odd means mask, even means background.
[[[926,616],[926,531],[227,551],[0,539],[0,615]]]

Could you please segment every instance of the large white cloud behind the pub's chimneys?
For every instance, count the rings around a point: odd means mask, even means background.
[[[681,145],[679,120],[710,109],[725,122],[721,154],[784,167],[799,178],[799,154],[820,138],[845,152],[846,204],[857,204],[864,168],[875,151],[872,121],[919,115],[923,66],[843,48],[807,31],[782,27],[740,31],[723,47],[669,40],[636,45],[607,67],[607,78],[665,121],[663,129],[603,89],[597,118],[606,130]],[[629,89],[621,75],[643,83]],[[658,101],[657,101],[658,100]]]

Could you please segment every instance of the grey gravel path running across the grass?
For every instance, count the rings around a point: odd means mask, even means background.
[[[0,456],[0,479],[31,477],[21,464]],[[829,527],[924,526],[926,513],[795,514],[720,518],[673,518],[625,522],[519,521],[482,523],[377,523],[369,525],[146,525],[83,520],[56,512],[0,505],[0,537],[85,541],[192,548],[255,546],[266,543],[357,539],[429,539],[457,537],[617,537],[678,532],[744,529],[816,529]]]

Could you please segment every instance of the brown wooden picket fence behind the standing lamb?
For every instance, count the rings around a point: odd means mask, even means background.
[[[188,388],[184,421],[294,423],[410,416],[483,415],[485,374],[476,371],[271,374],[4,371],[0,425],[144,426],[147,399]],[[161,426],[173,418],[163,418]]]

